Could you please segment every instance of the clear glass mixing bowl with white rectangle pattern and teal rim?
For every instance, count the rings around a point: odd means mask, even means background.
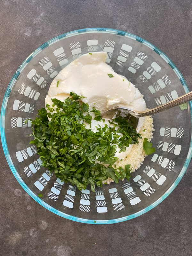
[[[107,63],[126,76],[154,108],[187,93],[172,61],[138,36],[107,28],[88,28],[57,36],[34,51],[18,68],[4,96],[1,139],[7,162],[20,185],[48,210],[84,223],[107,224],[132,219],[162,202],[177,186],[191,159],[191,102],[153,116],[153,146],[132,178],[104,185],[95,193],[79,191],[44,167],[29,144],[31,124],[57,73],[85,52],[108,52]],[[42,194],[42,197],[38,195]]]

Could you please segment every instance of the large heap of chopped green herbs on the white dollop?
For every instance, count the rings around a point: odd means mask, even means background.
[[[36,145],[42,166],[62,181],[75,184],[79,190],[90,184],[94,192],[95,187],[102,187],[102,180],[109,177],[116,183],[119,179],[129,180],[132,169],[129,164],[117,169],[113,165],[118,160],[115,152],[117,147],[121,152],[126,151],[129,144],[137,144],[140,134],[121,116],[109,121],[110,126],[105,124],[102,128],[98,124],[96,132],[85,128],[85,123],[91,125],[92,122],[90,112],[94,113],[94,120],[102,121],[100,111],[92,108],[89,112],[89,105],[79,101],[83,96],[73,92],[70,96],[64,102],[52,99],[55,110],[47,106],[50,113],[41,108],[36,119],[30,119],[30,136],[34,137],[30,144]]]

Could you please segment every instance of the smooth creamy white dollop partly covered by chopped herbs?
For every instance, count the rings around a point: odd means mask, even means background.
[[[107,52],[92,52],[92,54],[84,54],[69,63],[52,81],[45,98],[45,105],[52,106],[51,99],[53,98],[64,101],[69,97],[70,92],[75,92],[86,97],[82,101],[89,104],[89,109],[94,107],[101,113],[114,107],[145,111],[146,104],[143,95],[125,76],[117,74],[106,64],[106,59]],[[113,77],[109,77],[108,74]],[[57,81],[59,81],[58,87]],[[140,117],[137,132],[140,132],[144,119],[144,117]],[[107,119],[105,123],[93,120],[91,129],[94,132],[96,131],[95,126],[98,124],[102,127],[109,123]],[[89,124],[87,124],[87,128],[90,129]],[[119,153],[120,148],[117,148],[115,156],[123,159],[129,154],[131,148],[132,145],[129,145],[126,147],[126,151],[121,153]]]

